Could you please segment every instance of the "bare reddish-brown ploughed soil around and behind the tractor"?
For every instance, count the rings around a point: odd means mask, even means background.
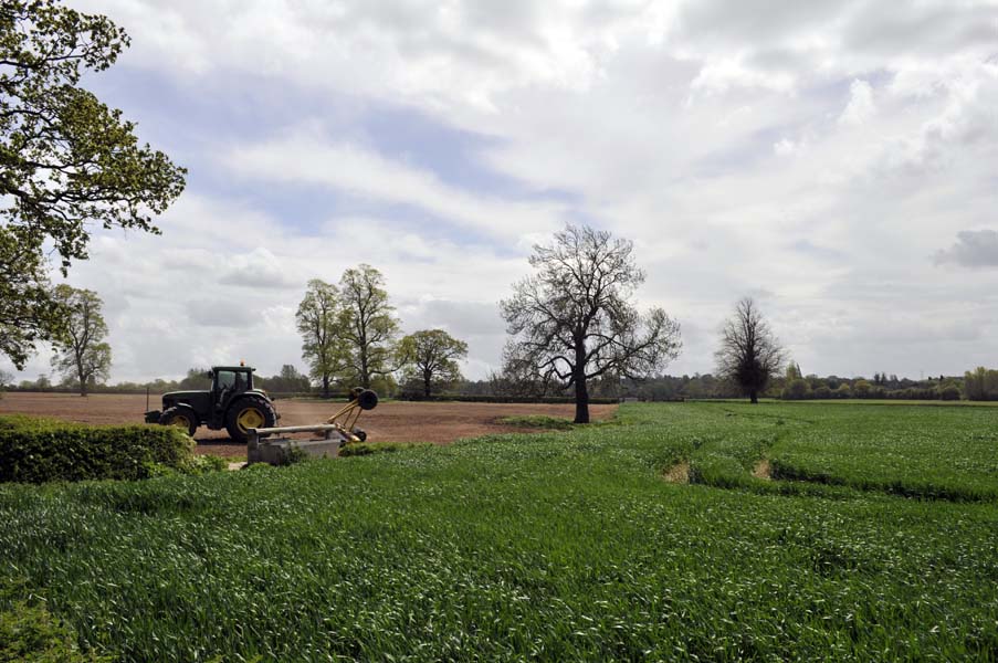
[[[306,425],[321,423],[343,403],[279,400],[276,406],[281,414],[280,425]],[[159,396],[149,397],[149,408],[160,408]],[[610,417],[616,410],[617,406],[589,406],[593,420]],[[136,394],[97,393],[82,398],[71,393],[8,392],[0,399],[0,414],[36,414],[81,423],[141,423],[145,411],[146,397]],[[370,442],[448,444],[461,438],[523,431],[496,423],[503,417],[522,414],[572,417],[575,406],[385,402],[361,414],[358,425],[367,431]],[[245,445],[232,444],[225,431],[200,428],[195,440],[198,442],[198,453],[245,455]]]

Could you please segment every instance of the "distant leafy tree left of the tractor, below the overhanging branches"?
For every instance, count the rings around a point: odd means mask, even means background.
[[[86,396],[90,386],[111,375],[111,346],[104,341],[107,324],[101,313],[101,297],[88,290],[59,285],[54,301],[67,312],[65,333],[55,343],[52,366],[80,387]]]

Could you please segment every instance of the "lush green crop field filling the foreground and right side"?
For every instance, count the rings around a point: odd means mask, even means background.
[[[0,576],[125,660],[994,661],[998,410],[628,404],[288,469],[6,485]]]

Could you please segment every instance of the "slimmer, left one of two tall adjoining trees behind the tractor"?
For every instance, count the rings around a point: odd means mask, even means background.
[[[302,357],[308,362],[312,378],[322,385],[326,398],[330,381],[343,370],[344,357],[336,329],[338,316],[336,286],[319,278],[309,281],[295,317],[302,335]]]

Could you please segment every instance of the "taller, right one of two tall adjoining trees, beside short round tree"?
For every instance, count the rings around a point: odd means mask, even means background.
[[[370,388],[374,377],[398,370],[395,339],[399,320],[384,286],[381,273],[366,264],[347,270],[339,281],[337,335],[343,341],[348,377],[365,389]]]

